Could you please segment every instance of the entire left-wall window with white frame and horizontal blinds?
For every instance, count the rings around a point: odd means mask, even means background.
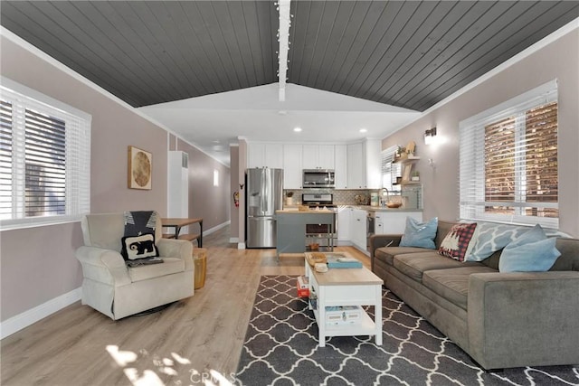
[[[0,87],[0,229],[90,212],[90,115],[12,80]]]

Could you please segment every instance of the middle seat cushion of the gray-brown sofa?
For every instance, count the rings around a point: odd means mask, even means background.
[[[445,258],[439,255],[436,250],[422,253],[408,253],[394,257],[394,268],[419,282],[422,281],[422,274],[428,270],[460,268],[464,267],[465,264],[469,266],[481,266],[480,263],[476,262],[463,263],[458,260]]]

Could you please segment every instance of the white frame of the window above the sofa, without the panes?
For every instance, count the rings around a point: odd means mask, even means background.
[[[557,202],[520,202],[515,199],[508,202],[509,207],[516,208],[515,214],[498,214],[485,212],[486,206],[492,202],[485,201],[485,126],[497,123],[505,118],[515,118],[516,146],[520,145],[520,128],[525,129],[526,124],[518,121],[524,119],[528,110],[546,105],[552,102],[558,103],[557,81],[549,81],[536,89],[531,89],[513,99],[489,108],[476,116],[460,121],[460,170],[459,170],[459,194],[460,194],[460,219],[468,221],[495,221],[502,223],[517,223],[525,225],[540,224],[546,228],[558,229],[558,217],[538,217],[519,214],[529,206],[554,208],[558,210]],[[522,116],[518,117],[517,116]],[[517,122],[518,121],[518,122]],[[558,130],[557,130],[558,131]],[[557,143],[558,146],[558,143]],[[517,165],[517,163],[516,163]],[[521,174],[521,165],[517,165],[516,178],[518,182],[526,178]],[[527,170],[526,168],[524,169]],[[517,186],[520,188],[520,185]],[[517,189],[517,188],[516,188]],[[498,202],[505,204],[506,202]]]

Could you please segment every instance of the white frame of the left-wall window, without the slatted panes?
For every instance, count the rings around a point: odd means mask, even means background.
[[[65,222],[80,221],[83,214],[90,212],[90,114],[73,108],[57,99],[30,89],[14,80],[0,77],[0,99],[13,105],[12,134],[18,137],[14,149],[12,165],[13,199],[12,218],[0,220],[0,231],[32,228]],[[66,198],[65,214],[45,216],[25,216],[23,202],[17,197],[24,193],[24,118],[14,117],[17,109],[32,109],[66,123]],[[15,151],[14,151],[15,150]],[[16,173],[16,174],[14,174]],[[22,177],[14,176],[22,175]],[[20,200],[22,201],[22,200]]]

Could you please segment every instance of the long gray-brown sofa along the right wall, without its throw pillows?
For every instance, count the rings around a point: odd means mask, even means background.
[[[438,221],[437,249],[455,223]],[[460,262],[399,247],[401,238],[372,237],[372,270],[481,367],[579,363],[579,240],[556,240],[561,256],[549,271],[502,273],[501,250]]]

